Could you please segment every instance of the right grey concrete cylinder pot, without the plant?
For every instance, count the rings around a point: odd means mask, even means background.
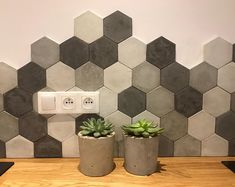
[[[159,138],[139,138],[124,135],[124,167],[135,175],[150,175],[157,171]]]

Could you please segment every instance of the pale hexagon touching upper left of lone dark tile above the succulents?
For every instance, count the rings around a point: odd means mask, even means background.
[[[104,70],[104,85],[119,93],[131,86],[132,71],[117,62]]]

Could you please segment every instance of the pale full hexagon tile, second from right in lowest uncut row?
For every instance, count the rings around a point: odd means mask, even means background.
[[[200,111],[188,119],[189,135],[203,140],[215,133],[215,118],[205,111]]]

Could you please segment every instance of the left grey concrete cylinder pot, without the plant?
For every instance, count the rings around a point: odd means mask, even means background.
[[[78,133],[79,170],[87,176],[99,177],[113,171],[113,147],[115,133],[107,137],[94,138]]]

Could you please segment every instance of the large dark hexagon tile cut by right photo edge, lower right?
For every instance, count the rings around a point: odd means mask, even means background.
[[[216,118],[215,133],[226,140],[235,139],[235,113],[229,111]]]

